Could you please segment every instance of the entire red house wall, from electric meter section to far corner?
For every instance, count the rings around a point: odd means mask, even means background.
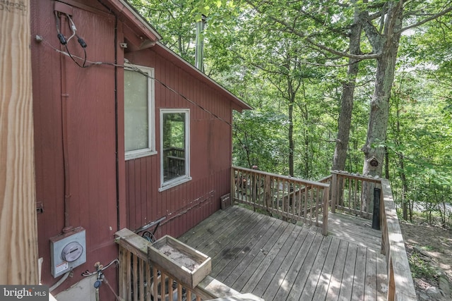
[[[95,290],[89,284],[93,281],[81,274],[86,270],[93,272],[95,262],[106,265],[118,257],[116,231],[124,227],[134,230],[165,216],[157,238],[165,234],[178,237],[220,209],[220,196],[230,190],[230,124],[232,109],[237,109],[237,104],[222,99],[218,87],[206,84],[203,76],[194,76],[186,66],[180,68],[180,61],[158,45],[140,51],[119,47],[127,35],[137,40],[140,33],[131,30],[130,20],[118,13],[115,16],[104,6],[109,1],[65,2],[71,4],[64,9],[71,14],[78,35],[88,44],[86,64],[90,61],[109,64],[81,68],[69,56],[60,54],[58,49],[66,49],[57,38],[54,18],[57,2],[31,1],[35,179],[40,208],[38,252],[44,259],[42,283],[51,286],[58,278],[51,274],[49,239],[62,233],[65,226],[85,228],[86,263],[76,267],[73,276],[52,293],[58,294],[74,285],[61,297],[70,298],[76,293],[93,299]],[[61,32],[70,37],[68,19],[64,15],[60,19]],[[36,35],[43,40],[37,41]],[[68,48],[71,54],[83,58],[76,37]],[[124,56],[131,63],[155,68],[157,79],[157,154],[127,161],[121,68]],[[116,68],[112,66],[115,62],[119,64]],[[191,180],[159,192],[159,112],[174,108],[190,109]],[[114,265],[105,270],[105,276],[117,288]],[[100,298],[114,300],[107,285],[101,286]]]

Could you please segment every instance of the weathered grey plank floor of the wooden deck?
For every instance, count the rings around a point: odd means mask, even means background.
[[[239,206],[182,235],[212,258],[210,276],[242,293],[276,300],[386,300],[380,231],[364,219],[330,214],[328,236]]]

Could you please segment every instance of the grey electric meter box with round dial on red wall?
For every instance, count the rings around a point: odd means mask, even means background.
[[[52,276],[71,271],[86,262],[86,234],[82,227],[50,238]]]

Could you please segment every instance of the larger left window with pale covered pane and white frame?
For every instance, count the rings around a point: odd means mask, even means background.
[[[126,160],[156,154],[153,77],[153,68],[143,66],[133,66],[133,69],[131,66],[124,68],[124,145]]]

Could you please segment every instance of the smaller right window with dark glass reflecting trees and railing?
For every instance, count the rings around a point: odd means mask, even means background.
[[[160,110],[160,191],[191,180],[189,113],[188,109]]]

